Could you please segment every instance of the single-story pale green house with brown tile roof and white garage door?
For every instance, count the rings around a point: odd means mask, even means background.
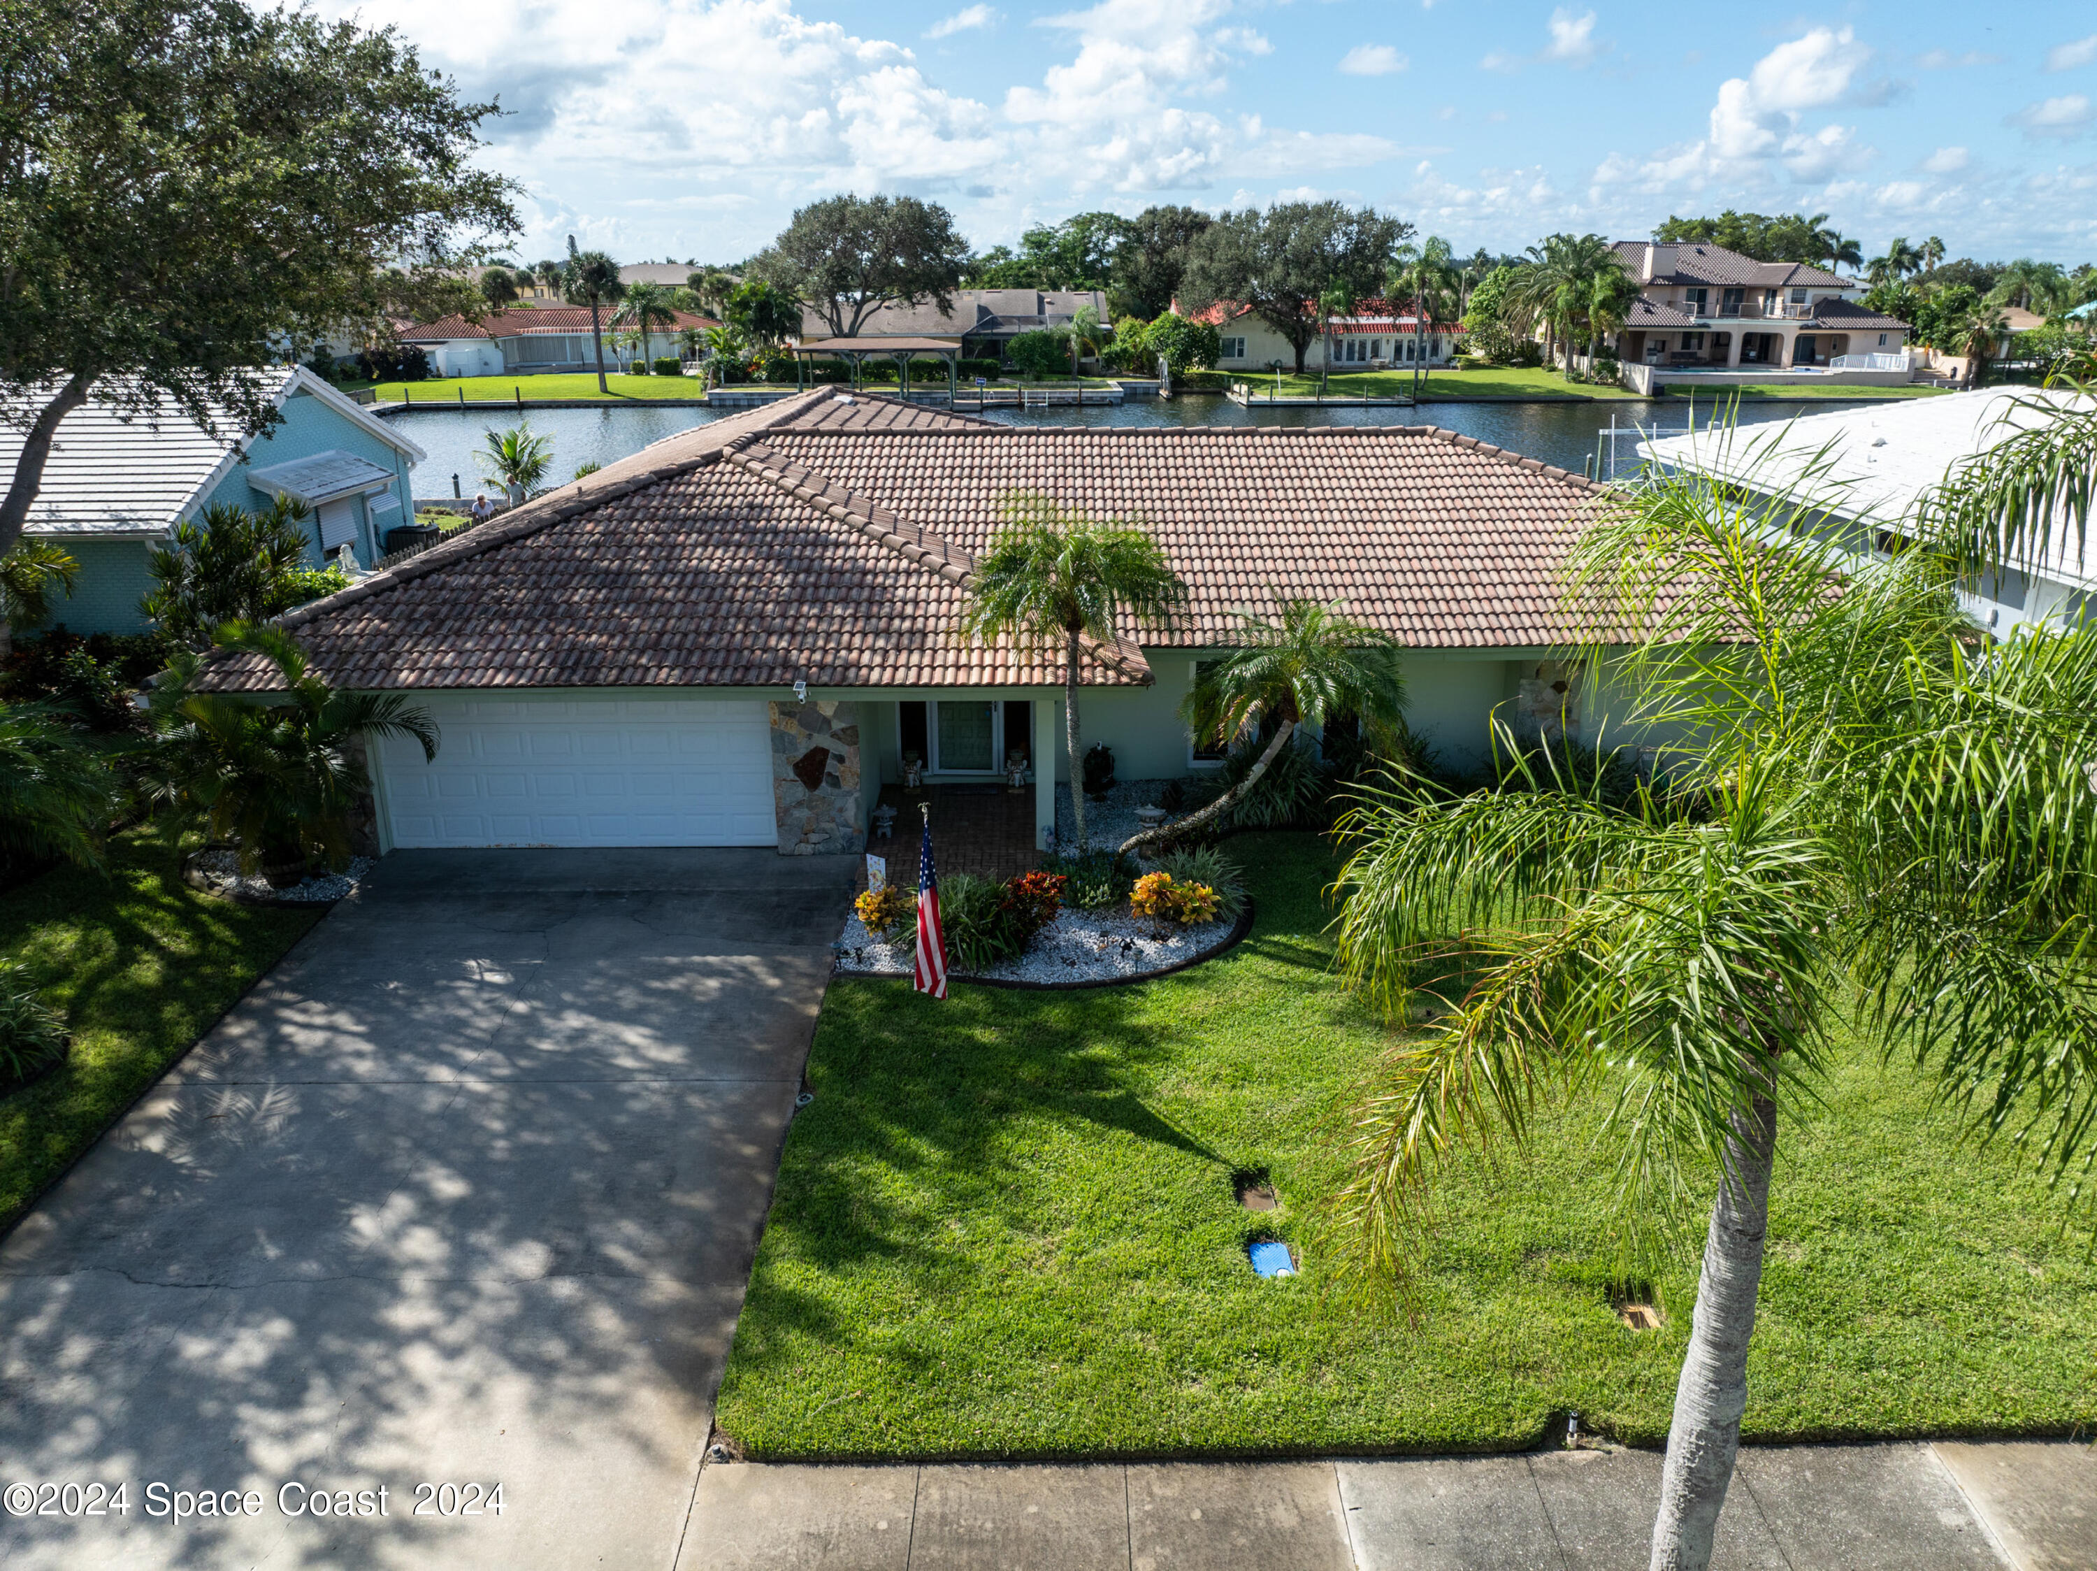
[[[1061,646],[956,633],[1015,493],[1134,518],[1187,581],[1172,627],[1088,644],[1086,743],[1124,778],[1220,766],[1179,705],[1239,610],[1317,598],[1407,650],[1409,724],[1453,766],[1579,728],[1552,665],[1596,487],[1432,428],[1015,428],[820,388],[698,426],[285,615],[329,682],[442,728],[375,749],[386,845],[864,843],[916,751],[933,780],[1069,776]],[[220,654],[206,682],[271,688]],[[1569,692],[1573,688],[1573,692]]]

